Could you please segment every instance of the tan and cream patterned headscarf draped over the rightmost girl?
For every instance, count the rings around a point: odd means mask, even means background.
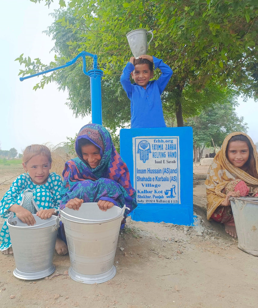
[[[227,135],[227,137],[223,141],[221,150],[214,157],[213,163],[211,164],[207,173],[207,180],[205,181],[207,192],[207,219],[210,219],[215,209],[226,198],[226,195],[223,194],[221,191],[223,190],[223,188],[225,188],[227,183],[236,179],[241,179],[248,186],[258,185],[258,179],[241,170],[240,168],[235,167],[227,159],[227,144],[231,137],[235,135],[244,135],[250,140],[255,159],[255,168],[258,173],[258,154],[252,139],[247,134],[242,132],[233,132]]]

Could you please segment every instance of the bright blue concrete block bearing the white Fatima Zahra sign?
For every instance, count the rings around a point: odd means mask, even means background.
[[[191,127],[121,129],[120,154],[137,192],[133,220],[194,223]]]

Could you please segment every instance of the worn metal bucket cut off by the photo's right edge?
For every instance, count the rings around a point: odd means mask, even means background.
[[[258,197],[230,197],[238,247],[258,256]]]

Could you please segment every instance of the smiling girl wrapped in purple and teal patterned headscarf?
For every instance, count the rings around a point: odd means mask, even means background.
[[[129,170],[117,153],[109,132],[99,124],[87,124],[75,141],[77,158],[68,160],[63,171],[60,209],[78,210],[83,202],[97,202],[100,210],[113,205],[137,207]],[[125,221],[122,221],[122,227]]]

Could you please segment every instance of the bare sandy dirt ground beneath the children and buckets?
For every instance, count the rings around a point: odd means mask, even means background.
[[[14,257],[0,254],[1,307],[256,307],[257,257],[238,249],[223,226],[206,220],[207,169],[194,164],[195,226],[128,219],[127,232],[118,239],[117,274],[108,282],[73,281],[67,274],[69,256],[56,253],[54,274],[20,280],[13,275]],[[9,186],[0,185],[0,197]]]

